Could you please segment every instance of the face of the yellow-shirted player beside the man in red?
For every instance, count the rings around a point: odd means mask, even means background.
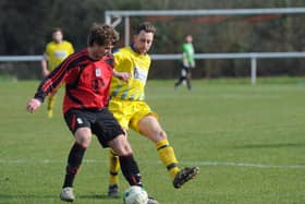
[[[139,53],[147,53],[152,45],[154,33],[146,33],[141,31],[134,36],[134,46]]]

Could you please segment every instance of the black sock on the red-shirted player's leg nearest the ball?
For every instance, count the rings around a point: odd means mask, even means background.
[[[125,179],[129,181],[130,185],[142,187],[142,179],[141,179],[138,166],[133,155],[120,156],[119,158],[120,158],[122,172]]]

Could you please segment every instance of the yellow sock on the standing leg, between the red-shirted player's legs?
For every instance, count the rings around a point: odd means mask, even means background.
[[[119,183],[120,160],[119,156],[112,151],[109,151],[109,184]]]

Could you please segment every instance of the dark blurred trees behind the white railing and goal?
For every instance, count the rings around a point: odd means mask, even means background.
[[[65,39],[76,50],[86,46],[94,22],[105,22],[106,10],[197,10],[305,7],[297,0],[1,0],[0,55],[41,55],[51,40],[51,29],[63,28]],[[277,52],[303,51],[305,14],[236,16],[150,16],[132,17],[131,25],[151,21],[158,32],[151,53],[179,53],[186,34],[194,37],[196,52]],[[123,23],[118,46],[123,45]],[[304,59],[266,59],[258,61],[259,75],[304,75]],[[36,77],[39,68],[23,63],[0,64],[17,72],[19,77]],[[0,74],[3,70],[0,69]],[[249,60],[198,60],[194,77],[248,76]],[[1,71],[2,70],[2,71]],[[12,71],[13,70],[13,71]],[[180,61],[154,61],[150,77],[178,75]]]

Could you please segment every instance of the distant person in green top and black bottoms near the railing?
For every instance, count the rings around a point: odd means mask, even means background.
[[[176,88],[180,84],[186,82],[187,88],[191,91],[191,77],[192,77],[192,69],[195,68],[195,49],[193,46],[193,37],[192,35],[185,36],[185,43],[182,45],[182,70],[180,73],[179,81],[174,84],[174,88]]]

